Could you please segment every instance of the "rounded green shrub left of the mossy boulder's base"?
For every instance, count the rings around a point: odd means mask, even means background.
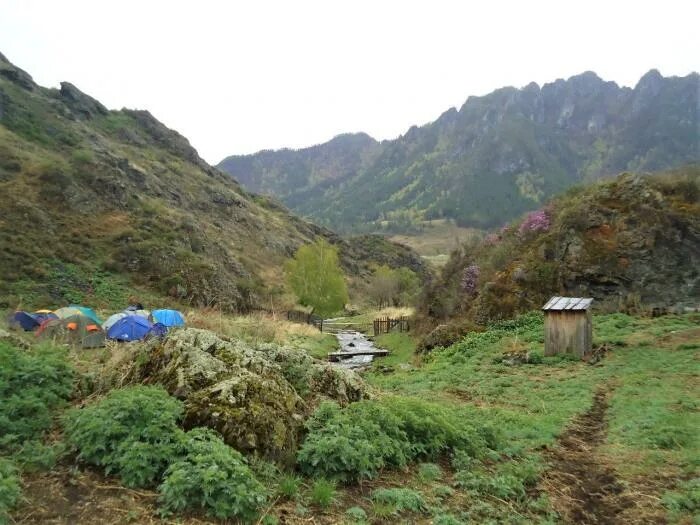
[[[116,473],[129,487],[160,480],[173,457],[181,454],[183,432],[177,426],[182,403],[160,387],[113,390],[99,402],[66,416],[66,437],[78,457]]]

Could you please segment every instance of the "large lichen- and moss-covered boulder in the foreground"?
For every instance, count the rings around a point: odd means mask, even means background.
[[[185,402],[185,425],[206,425],[241,451],[283,459],[322,399],[369,397],[363,381],[302,350],[251,346],[208,330],[175,330],[146,343],[132,382],[161,384]]]

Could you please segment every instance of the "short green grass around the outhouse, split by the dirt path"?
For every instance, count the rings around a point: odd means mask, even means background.
[[[459,406],[465,417],[496,424],[511,452],[528,459],[541,459],[543,447],[555,445],[574,416],[590,408],[597,389],[611,389],[609,430],[600,454],[628,492],[650,494],[646,500],[634,498],[628,517],[643,512],[658,519],[665,509],[656,498],[698,474],[699,321],[697,314],[597,316],[596,344],[614,348],[597,365],[559,358],[537,365],[496,363],[494,358],[514,349],[541,355],[542,325],[535,319],[501,333],[468,336],[420,369],[369,378],[384,391],[439,399]],[[674,520],[684,515],[687,511],[669,514]]]

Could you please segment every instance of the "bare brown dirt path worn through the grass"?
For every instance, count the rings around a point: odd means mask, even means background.
[[[548,455],[550,470],[542,480],[552,503],[567,523],[620,523],[631,505],[614,471],[597,457],[607,432],[610,391],[600,389],[591,409],[578,416]]]

